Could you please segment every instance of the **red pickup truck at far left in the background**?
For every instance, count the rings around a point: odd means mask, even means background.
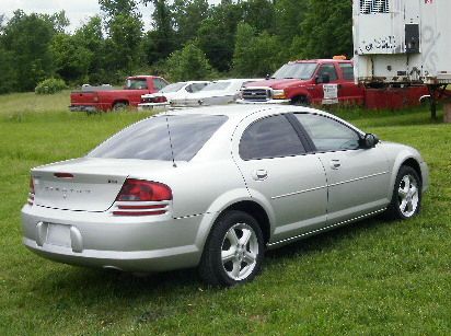
[[[167,82],[155,76],[128,77],[123,90],[112,86],[83,86],[81,91],[70,94],[70,111],[97,112],[123,109],[127,106],[138,106],[141,95],[155,93],[167,85]]]

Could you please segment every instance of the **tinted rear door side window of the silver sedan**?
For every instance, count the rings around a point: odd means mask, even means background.
[[[243,160],[294,157],[305,150],[294,128],[285,116],[271,116],[252,124],[240,141]]]

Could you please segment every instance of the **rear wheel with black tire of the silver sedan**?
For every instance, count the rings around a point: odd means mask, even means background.
[[[201,279],[231,287],[252,281],[264,258],[264,239],[257,221],[243,211],[227,211],[215,222],[199,265]]]

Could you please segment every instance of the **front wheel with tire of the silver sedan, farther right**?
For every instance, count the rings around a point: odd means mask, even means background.
[[[391,220],[405,220],[417,215],[420,206],[421,179],[413,167],[402,165],[385,215]]]

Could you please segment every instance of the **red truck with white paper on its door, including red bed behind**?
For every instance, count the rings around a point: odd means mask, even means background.
[[[352,61],[346,59],[297,60],[282,66],[271,78],[252,82],[239,103],[322,105],[343,103],[368,108],[402,108],[418,105],[426,86],[367,89],[354,81]]]

